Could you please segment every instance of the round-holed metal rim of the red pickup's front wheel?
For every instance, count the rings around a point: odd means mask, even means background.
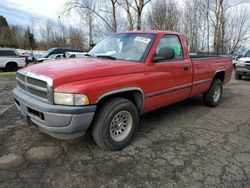
[[[110,136],[116,141],[124,140],[130,133],[133,124],[133,118],[130,112],[120,111],[112,119],[110,124]]]

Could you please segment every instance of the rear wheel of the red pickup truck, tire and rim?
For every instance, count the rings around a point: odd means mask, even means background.
[[[220,79],[214,79],[209,90],[203,94],[203,101],[206,106],[216,107],[221,102],[223,84]]]

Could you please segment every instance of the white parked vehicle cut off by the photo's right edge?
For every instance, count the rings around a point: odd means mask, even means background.
[[[236,63],[235,79],[241,80],[243,76],[250,76],[250,49]]]

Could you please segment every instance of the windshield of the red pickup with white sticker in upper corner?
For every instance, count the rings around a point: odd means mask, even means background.
[[[91,57],[103,57],[143,62],[151,48],[155,34],[127,33],[105,38],[90,52]]]

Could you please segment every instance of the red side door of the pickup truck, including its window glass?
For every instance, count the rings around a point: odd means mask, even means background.
[[[174,57],[169,60],[153,61],[146,66],[145,90],[146,108],[156,109],[189,96],[192,86],[192,64],[184,59],[183,49],[177,35],[163,35],[155,56],[164,49],[171,48]]]

